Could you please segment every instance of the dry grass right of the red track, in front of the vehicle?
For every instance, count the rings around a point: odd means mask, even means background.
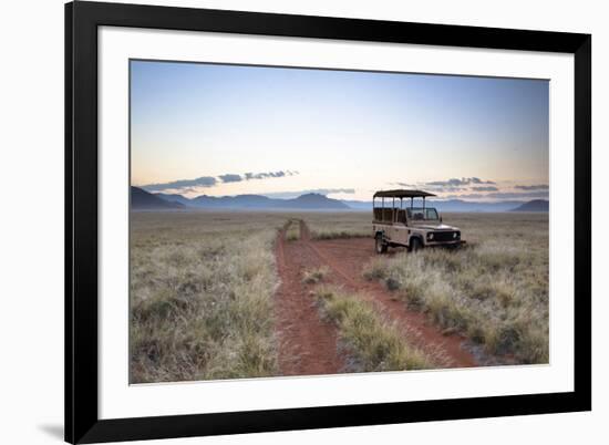
[[[462,229],[468,247],[378,258],[364,276],[489,353],[547,363],[547,214],[454,214],[444,220]]]

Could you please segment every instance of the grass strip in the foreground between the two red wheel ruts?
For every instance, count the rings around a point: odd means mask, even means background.
[[[320,310],[339,330],[350,356],[349,371],[404,371],[435,368],[432,359],[410,344],[399,328],[371,303],[341,289],[316,291]]]

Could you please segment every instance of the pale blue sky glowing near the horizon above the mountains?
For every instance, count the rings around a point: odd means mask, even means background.
[[[132,185],[547,198],[548,94],[545,80],[131,61]]]

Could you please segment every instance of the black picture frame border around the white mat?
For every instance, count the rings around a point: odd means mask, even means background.
[[[572,392],[236,413],[97,415],[97,27],[415,43],[575,56]],[[65,4],[65,441],[95,443],[591,410],[591,35],[78,1]]]

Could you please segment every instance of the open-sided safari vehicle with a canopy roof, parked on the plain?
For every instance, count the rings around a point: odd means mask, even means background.
[[[425,207],[425,198],[436,196],[422,190],[381,190],[372,197],[372,228],[376,253],[389,247],[457,247],[465,241],[461,230],[442,224],[434,207]],[[407,199],[410,198],[410,206]],[[414,198],[423,198],[422,207],[414,207]],[[404,206],[404,199],[406,205]]]

